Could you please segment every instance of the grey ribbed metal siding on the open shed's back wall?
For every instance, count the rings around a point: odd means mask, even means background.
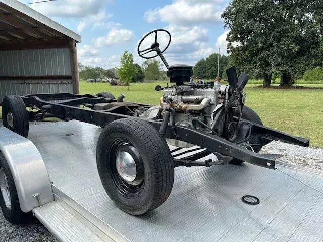
[[[0,51],[0,76],[72,76],[68,48]],[[0,101],[9,94],[75,92],[73,80],[0,80]]]

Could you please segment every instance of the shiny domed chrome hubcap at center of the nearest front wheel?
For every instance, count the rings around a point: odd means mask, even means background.
[[[132,183],[136,179],[136,162],[128,152],[121,151],[118,153],[116,166],[118,174],[127,183]]]

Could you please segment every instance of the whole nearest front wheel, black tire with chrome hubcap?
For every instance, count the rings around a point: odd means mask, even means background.
[[[156,209],[172,191],[174,163],[166,140],[139,118],[118,119],[104,128],[96,162],[107,195],[129,214]]]

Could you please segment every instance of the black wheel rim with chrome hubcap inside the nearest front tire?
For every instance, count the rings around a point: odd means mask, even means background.
[[[127,198],[138,197],[144,187],[144,164],[139,151],[126,139],[117,139],[107,162],[115,188]]]

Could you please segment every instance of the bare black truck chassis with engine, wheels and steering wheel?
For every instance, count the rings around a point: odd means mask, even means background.
[[[169,36],[164,49],[157,42],[157,33]],[[152,44],[145,47],[144,41],[149,38]],[[160,105],[124,102],[124,94],[115,98],[111,93],[9,95],[2,102],[4,126],[26,138],[29,121],[46,117],[104,127],[96,147],[97,170],[106,193],[132,215],[146,214],[167,200],[173,188],[174,167],[248,162],[275,169],[275,160],[281,155],[259,154],[262,146],[273,140],[309,146],[308,139],[264,127],[260,117],[245,106],[245,73],[238,77],[235,67],[227,69],[229,85],[190,81],[191,66],[167,63],[163,52],[170,42],[167,30],[154,30],[138,46],[143,58],[159,56],[170,82],[176,83],[156,86],[156,91],[163,90]],[[156,54],[147,56],[153,52]],[[177,146],[179,153],[174,155],[167,143]],[[192,146],[198,146],[193,150],[196,153],[185,156],[192,151],[181,152]],[[217,160],[203,160],[210,154]]]

